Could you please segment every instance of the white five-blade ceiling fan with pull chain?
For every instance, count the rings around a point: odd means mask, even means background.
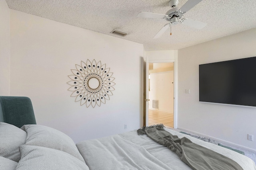
[[[159,38],[169,27],[171,28],[172,25],[176,25],[178,23],[182,23],[184,25],[188,25],[190,27],[194,27],[196,29],[204,28],[207,23],[196,21],[188,18],[182,18],[183,14],[188,12],[191,8],[196,6],[202,0],[188,0],[180,9],[176,8],[179,1],[178,0],[170,0],[169,6],[172,7],[166,14],[155,14],[150,12],[140,12],[137,16],[141,18],[159,18],[165,19],[170,21],[158,31],[158,33],[153,37],[154,39]],[[170,33],[172,35],[172,33]]]

